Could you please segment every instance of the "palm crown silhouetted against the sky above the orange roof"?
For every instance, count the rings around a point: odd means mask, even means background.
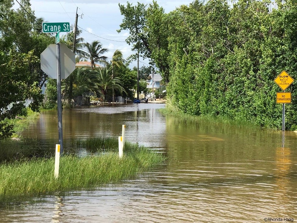
[[[99,41],[93,41],[92,43],[84,43],[84,51],[82,56],[86,59],[90,59],[91,67],[95,67],[95,63],[105,64],[107,56],[102,56],[103,53],[108,52],[108,49],[102,48],[102,44]]]

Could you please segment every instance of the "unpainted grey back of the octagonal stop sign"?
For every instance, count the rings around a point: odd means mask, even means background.
[[[56,44],[50,44],[40,55],[41,70],[52,79],[57,79],[56,48]],[[67,78],[75,70],[75,55],[65,44],[60,44],[60,67],[61,79]]]

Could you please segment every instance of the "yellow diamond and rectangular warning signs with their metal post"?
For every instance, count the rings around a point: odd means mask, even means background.
[[[283,90],[283,92],[276,93],[276,103],[283,104],[282,131],[285,131],[285,103],[291,103],[291,92],[285,92],[285,89],[288,88],[293,81],[293,78],[290,77],[285,70],[274,79],[274,82]]]

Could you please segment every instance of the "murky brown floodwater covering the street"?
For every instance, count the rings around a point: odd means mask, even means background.
[[[168,160],[115,185],[0,206],[0,222],[297,221],[296,133],[193,123],[162,116],[163,106],[63,110],[65,151],[71,138],[118,137],[126,124],[127,141]],[[23,136],[58,141],[57,122],[45,111]]]

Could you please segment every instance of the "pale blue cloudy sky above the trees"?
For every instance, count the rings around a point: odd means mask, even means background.
[[[19,7],[19,4],[16,1],[14,2],[15,7]],[[152,0],[130,0],[128,2],[132,3],[133,6],[137,5],[137,2],[148,6]],[[189,5],[191,2],[193,0],[159,0],[157,4],[163,7],[165,13],[169,13],[180,5]],[[77,9],[77,26],[83,31],[80,37],[89,43],[95,40],[99,41],[103,48],[109,50],[108,53],[104,54],[108,57],[108,61],[116,49],[123,53],[125,59],[135,53],[131,51],[131,46],[125,41],[129,36],[129,31],[125,30],[120,33],[116,31],[120,28],[124,18],[120,13],[118,4],[127,5],[125,0],[30,0],[30,3],[36,17],[43,17],[45,21],[52,23],[69,22],[74,25]],[[61,33],[60,37],[63,34],[66,33]],[[148,60],[140,58],[139,67],[143,65],[148,66]],[[137,66],[136,61],[129,65],[130,68],[134,66]]]

